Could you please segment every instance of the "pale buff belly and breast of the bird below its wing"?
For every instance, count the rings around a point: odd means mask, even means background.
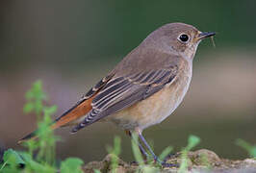
[[[106,118],[125,130],[135,128],[143,130],[160,123],[179,106],[190,82],[191,74],[180,78],[174,84],[166,85],[147,99]]]

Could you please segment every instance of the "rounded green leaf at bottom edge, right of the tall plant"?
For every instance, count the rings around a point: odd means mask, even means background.
[[[84,161],[78,158],[68,158],[61,164],[61,173],[82,173],[82,164],[84,164]]]

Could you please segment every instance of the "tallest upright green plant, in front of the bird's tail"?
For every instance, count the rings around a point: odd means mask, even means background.
[[[46,161],[49,164],[53,164],[55,158],[55,144],[58,137],[54,136],[50,124],[52,123],[51,116],[57,111],[57,107],[45,106],[44,102],[47,101],[47,95],[42,90],[41,81],[34,83],[32,88],[27,91],[26,99],[27,103],[24,106],[24,112],[35,112],[38,118],[38,141],[29,140],[26,141],[24,145],[28,148],[31,157],[34,151],[38,150],[38,161]]]

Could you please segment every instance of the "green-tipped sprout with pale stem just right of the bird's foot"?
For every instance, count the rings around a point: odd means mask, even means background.
[[[192,150],[193,147],[198,145],[199,142],[200,142],[200,138],[198,136],[189,136],[188,145],[181,152],[182,153],[181,154],[181,164],[180,164],[178,173],[184,173],[187,171],[188,166],[189,166],[188,153],[189,153],[189,151]]]

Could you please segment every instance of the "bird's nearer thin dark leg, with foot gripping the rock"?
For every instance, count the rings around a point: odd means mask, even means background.
[[[166,161],[160,161],[159,158],[155,155],[149,144],[146,142],[145,138],[142,136],[141,130],[136,130],[138,136],[140,137],[141,141],[145,145],[145,147],[148,149],[149,153],[152,155],[154,158],[154,161],[157,161],[161,163],[164,167],[178,167],[177,164],[172,164],[172,163],[166,163]]]

